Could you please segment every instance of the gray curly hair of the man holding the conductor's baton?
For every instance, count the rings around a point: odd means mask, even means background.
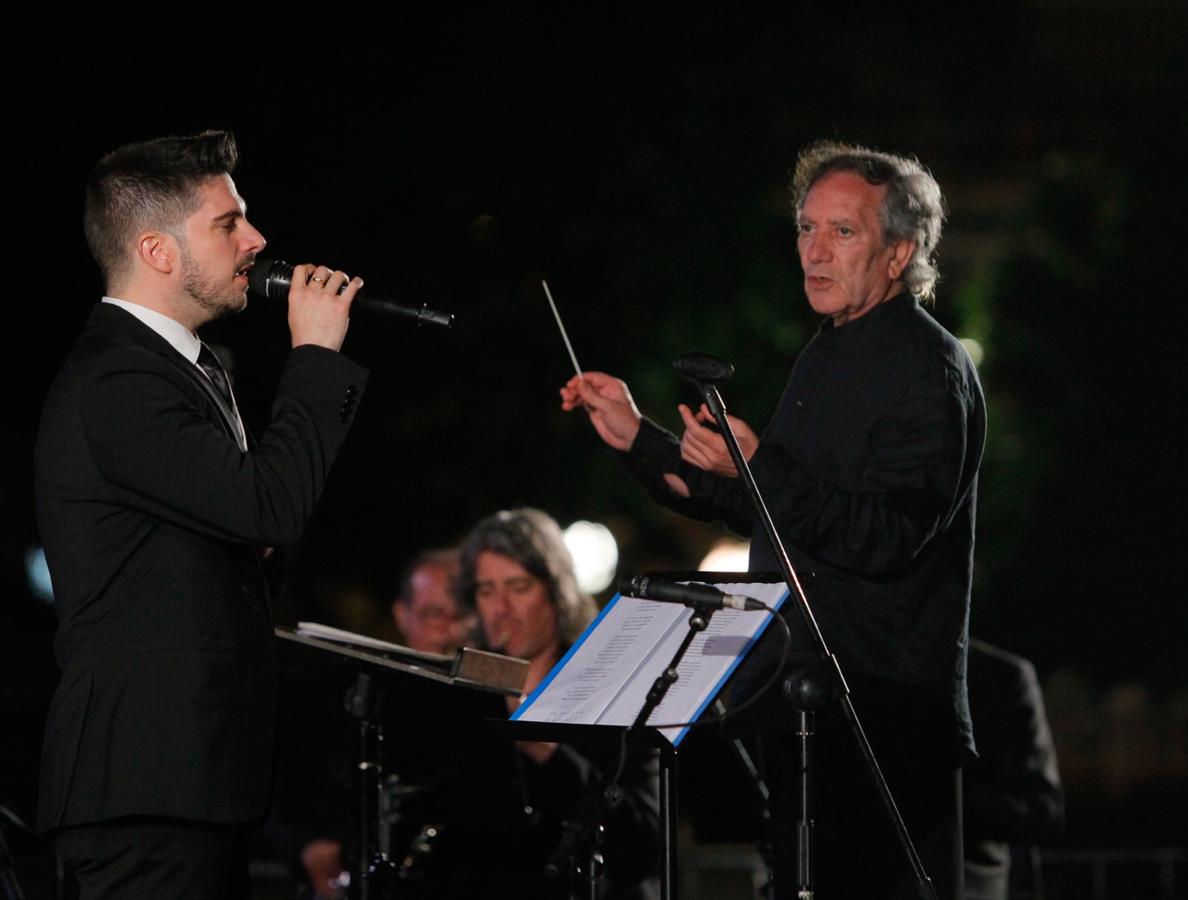
[[[936,246],[944,224],[944,197],[933,175],[917,159],[897,157],[857,144],[817,141],[805,147],[792,173],[792,208],[800,216],[804,198],[814,184],[833,172],[854,172],[867,184],[885,184],[886,195],[879,217],[883,240],[914,241],[916,245],[903,281],[922,300],[935,296],[941,273],[936,268]]]

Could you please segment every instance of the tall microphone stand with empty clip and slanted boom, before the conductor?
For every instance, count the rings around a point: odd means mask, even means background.
[[[821,628],[817,626],[816,617],[813,615],[813,608],[809,606],[809,600],[804,595],[804,588],[801,587],[801,579],[796,575],[796,570],[792,568],[791,559],[788,557],[788,551],[784,550],[779,534],[776,532],[776,524],[771,519],[771,513],[767,512],[767,505],[764,502],[763,494],[759,493],[759,486],[754,482],[754,475],[751,474],[751,467],[747,465],[747,462],[742,456],[742,451],[739,449],[739,442],[734,435],[734,430],[731,427],[729,420],[726,418],[726,404],[722,403],[722,397],[718,392],[718,386],[714,381],[728,376],[729,373],[733,372],[733,367],[727,365],[721,372],[712,368],[703,369],[703,372],[707,372],[707,374],[712,373],[712,378],[714,380],[709,380],[709,378],[697,379],[696,376],[691,376],[689,380],[693,381],[693,384],[701,392],[701,395],[706,401],[706,406],[709,408],[710,414],[713,414],[714,420],[718,423],[722,439],[726,442],[726,449],[729,451],[731,458],[734,461],[734,467],[738,469],[739,478],[741,478],[742,484],[746,487],[747,495],[750,496],[751,503],[759,516],[763,530],[767,535],[767,541],[771,544],[772,552],[775,552],[776,559],[779,562],[779,570],[784,576],[784,582],[788,584],[788,590],[796,600],[796,606],[801,611],[801,617],[804,620],[804,627],[809,633],[813,646],[816,648],[817,654],[821,658],[822,677],[827,679],[827,683],[832,683],[833,690],[838,691],[838,702],[841,704],[841,710],[845,714],[846,722],[849,724],[849,730],[854,735],[854,741],[858,743],[862,759],[866,761],[866,767],[870,769],[871,777],[874,779],[879,799],[881,799],[883,807],[886,810],[887,817],[895,826],[896,836],[899,838],[899,845],[903,848],[904,856],[911,867],[912,874],[915,875],[917,894],[922,900],[937,900],[936,889],[933,886],[931,879],[928,877],[928,873],[924,872],[924,866],[920,861],[920,854],[916,853],[916,845],[912,843],[911,836],[908,834],[908,826],[904,824],[903,816],[899,815],[899,807],[896,805],[895,797],[891,796],[891,788],[887,787],[886,779],[883,777],[883,771],[879,768],[878,760],[874,756],[874,750],[871,749],[871,743],[866,739],[866,731],[862,730],[861,722],[858,720],[858,712],[854,710],[854,704],[849,698],[849,686],[846,684],[846,679],[841,673],[841,666],[838,664],[838,658],[829,651],[824,635],[821,634]],[[801,711],[802,718],[798,734],[801,737],[802,749],[802,792],[803,788],[808,786],[808,739],[813,731],[811,715],[811,712],[803,709]],[[801,798],[801,815],[802,822],[797,826],[797,881],[801,882],[797,886],[797,896],[809,900],[813,896],[813,887],[809,883],[810,872],[808,866],[810,825],[807,820],[807,793]]]

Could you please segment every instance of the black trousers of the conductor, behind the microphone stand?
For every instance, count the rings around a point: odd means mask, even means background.
[[[819,900],[915,899],[911,868],[861,754],[843,724],[830,724],[813,744],[815,895]],[[902,743],[880,741],[874,750],[937,896],[960,900],[961,772],[954,761],[914,739],[909,733],[901,736]],[[776,895],[784,900],[795,898],[797,888],[798,741],[792,734],[765,734],[762,740],[771,790]]]

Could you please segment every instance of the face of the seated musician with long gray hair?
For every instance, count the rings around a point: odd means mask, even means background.
[[[474,601],[492,649],[520,659],[557,653],[557,610],[543,581],[487,550],[479,553],[474,575]]]

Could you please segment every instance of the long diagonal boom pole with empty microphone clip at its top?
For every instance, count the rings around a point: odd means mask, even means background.
[[[725,378],[732,370],[732,367],[728,370],[723,369],[723,374],[720,378]],[[720,378],[715,378],[715,380],[720,380]],[[771,545],[772,552],[776,554],[776,559],[779,562],[779,569],[784,576],[784,581],[788,583],[788,590],[796,600],[796,604],[801,611],[801,617],[804,620],[804,627],[808,629],[809,638],[813,640],[813,646],[816,647],[816,651],[821,657],[821,661],[826,666],[824,677],[830,680],[833,687],[839,692],[838,699],[841,704],[841,710],[846,716],[846,722],[849,724],[854,740],[858,742],[858,748],[862,754],[862,759],[866,761],[866,767],[870,769],[871,777],[874,779],[879,798],[883,800],[883,807],[886,810],[887,817],[895,826],[896,835],[899,838],[899,845],[903,848],[904,856],[911,867],[912,874],[915,875],[918,894],[924,900],[937,900],[933,882],[928,877],[928,873],[924,872],[924,866],[920,861],[920,854],[916,853],[916,847],[911,841],[911,836],[908,834],[908,826],[904,824],[903,816],[899,815],[899,807],[896,806],[895,798],[891,796],[891,788],[887,787],[886,779],[883,777],[883,771],[879,768],[878,760],[874,758],[874,752],[871,749],[871,743],[866,739],[866,731],[862,730],[861,722],[858,720],[858,712],[854,710],[854,704],[851,702],[849,687],[841,673],[841,666],[838,665],[838,658],[829,651],[829,646],[826,644],[824,636],[821,634],[821,628],[817,626],[816,619],[813,615],[813,608],[809,606],[808,597],[804,595],[804,588],[801,587],[800,577],[797,577],[796,570],[792,568],[791,559],[788,557],[788,551],[784,550],[783,541],[781,541],[779,534],[776,532],[776,524],[771,519],[771,513],[767,512],[767,505],[764,502],[763,495],[759,493],[759,487],[754,482],[754,475],[751,474],[751,467],[747,465],[746,458],[744,458],[742,451],[739,449],[738,438],[734,436],[734,430],[731,427],[729,420],[726,418],[726,405],[722,403],[721,394],[718,392],[718,386],[697,379],[693,379],[693,381],[701,392],[701,395],[704,398],[706,406],[709,407],[709,412],[713,414],[714,420],[718,423],[719,431],[721,432],[722,438],[726,442],[726,448],[731,454],[731,459],[734,461],[734,467],[738,469],[739,477],[742,480],[742,484],[746,487],[751,503],[754,506],[759,521],[763,524],[763,530],[767,535],[767,541]],[[801,740],[807,741],[808,735],[805,734]],[[802,804],[803,803],[804,800],[802,799]],[[802,812],[807,813],[807,810],[802,810]],[[805,841],[808,839],[808,829],[805,829],[804,838]],[[800,863],[800,860],[797,862]],[[807,863],[808,861],[805,860],[805,879],[810,874]],[[803,893],[798,894],[798,896],[804,900],[809,900],[813,896],[811,886],[804,886]]]

